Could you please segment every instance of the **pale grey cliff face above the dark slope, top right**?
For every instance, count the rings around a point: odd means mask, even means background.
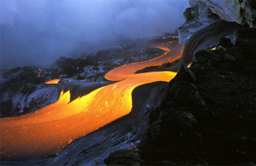
[[[220,20],[256,27],[256,1],[189,0],[189,4],[191,7],[183,13],[186,22],[178,28],[183,45],[195,32]]]

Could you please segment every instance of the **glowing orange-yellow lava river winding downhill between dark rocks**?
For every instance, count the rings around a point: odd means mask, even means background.
[[[130,113],[135,87],[170,81],[176,75],[170,71],[133,74],[138,69],[173,61],[182,54],[183,47],[179,46],[174,52],[166,47],[165,51],[153,60],[124,65],[106,74],[109,80],[122,81],[98,88],[71,102],[70,92],[61,92],[58,101],[51,105],[30,114],[0,119],[1,158],[40,159],[57,154],[74,139]]]

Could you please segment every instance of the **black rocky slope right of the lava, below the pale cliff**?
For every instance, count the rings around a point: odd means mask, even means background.
[[[247,31],[236,32],[233,46],[221,38],[216,50],[196,52],[191,67],[178,70],[150,112],[141,165],[256,163],[256,38]]]

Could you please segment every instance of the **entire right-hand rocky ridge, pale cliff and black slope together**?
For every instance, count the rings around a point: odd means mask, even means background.
[[[107,165],[255,165],[256,30],[245,29],[255,27],[254,2],[189,3],[182,60],[139,72],[191,67],[169,83],[139,146],[111,153]]]

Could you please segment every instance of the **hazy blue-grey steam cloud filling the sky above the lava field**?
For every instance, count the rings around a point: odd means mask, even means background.
[[[53,63],[173,32],[187,0],[1,0],[1,69]]]

